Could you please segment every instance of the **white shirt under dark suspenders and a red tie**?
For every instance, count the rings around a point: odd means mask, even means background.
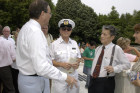
[[[104,56],[102,59],[102,65],[101,65],[99,77],[106,77],[107,76],[107,71],[104,69],[104,67],[109,66],[109,64],[110,64],[113,46],[114,46],[114,44],[112,42],[105,46]],[[95,50],[95,58],[94,58],[93,63],[92,63],[91,76],[92,76],[93,71],[95,69],[95,66],[96,66],[98,57],[101,53],[102,47],[103,47],[103,45],[97,47]],[[116,47],[115,47],[115,53],[114,53],[112,66],[114,69],[114,73],[110,73],[109,76],[114,76],[115,73],[119,73],[122,70],[127,70],[131,66],[130,62],[127,59],[126,55],[124,54],[123,50],[118,45],[116,45]]]

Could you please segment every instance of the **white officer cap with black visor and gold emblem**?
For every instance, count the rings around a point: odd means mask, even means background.
[[[62,19],[58,22],[58,27],[72,27],[72,29],[75,27],[75,23],[74,21],[72,21],[71,19]]]

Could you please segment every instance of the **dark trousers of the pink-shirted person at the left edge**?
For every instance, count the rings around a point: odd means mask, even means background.
[[[0,67],[0,81],[3,84],[2,93],[15,93],[10,66]]]

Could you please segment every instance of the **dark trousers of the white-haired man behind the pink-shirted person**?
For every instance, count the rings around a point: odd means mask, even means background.
[[[15,91],[16,91],[16,93],[19,93],[19,90],[18,90],[18,73],[19,73],[19,70],[14,69],[14,68],[11,68],[11,70],[12,70],[12,77],[13,77],[13,84],[14,84],[14,87],[15,87]]]

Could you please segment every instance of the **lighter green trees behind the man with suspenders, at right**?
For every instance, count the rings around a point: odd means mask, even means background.
[[[134,11],[133,15],[126,13],[119,16],[114,6],[112,6],[112,11],[108,15],[100,14],[98,16],[99,31],[101,31],[103,25],[114,25],[117,28],[117,36],[114,42],[116,42],[119,37],[127,37],[131,39],[133,43],[133,26],[137,23],[140,23],[140,11]]]

